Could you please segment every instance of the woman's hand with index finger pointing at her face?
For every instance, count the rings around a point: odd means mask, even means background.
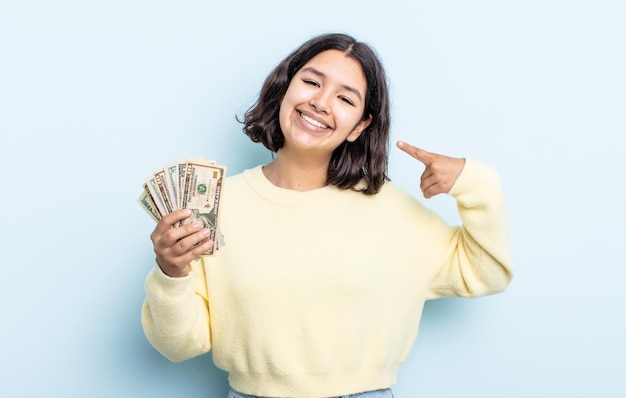
[[[398,148],[426,166],[420,183],[420,189],[426,199],[440,193],[450,192],[465,165],[465,159],[463,158],[452,158],[428,152],[403,141],[398,141],[397,145]]]

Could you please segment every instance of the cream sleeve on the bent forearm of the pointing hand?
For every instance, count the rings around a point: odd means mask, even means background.
[[[453,229],[443,251],[443,267],[428,298],[478,297],[503,291],[513,277],[509,222],[497,173],[472,159],[449,195],[457,202],[462,226]]]

